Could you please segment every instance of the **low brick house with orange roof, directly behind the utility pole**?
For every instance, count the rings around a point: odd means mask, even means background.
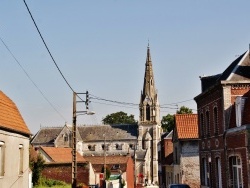
[[[45,168],[42,171],[43,177],[72,183],[71,148],[40,147],[37,151],[45,160]],[[77,153],[77,184],[90,184],[93,175],[90,164]]]

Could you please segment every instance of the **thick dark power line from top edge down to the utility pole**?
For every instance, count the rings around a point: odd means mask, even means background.
[[[47,44],[46,44],[46,42],[45,42],[43,36],[42,36],[42,34],[41,34],[41,32],[40,32],[40,30],[39,30],[39,28],[38,28],[38,26],[37,26],[37,24],[36,24],[36,22],[35,22],[33,16],[32,16],[32,14],[31,14],[31,12],[30,12],[30,9],[29,9],[27,3],[25,2],[25,0],[23,0],[23,2],[24,2],[24,4],[25,4],[25,6],[26,6],[26,8],[27,8],[27,10],[28,10],[28,12],[29,12],[29,14],[30,14],[30,17],[31,17],[31,19],[32,19],[32,21],[33,21],[33,23],[34,23],[34,25],[35,25],[35,27],[36,27],[36,29],[37,29],[37,31],[38,31],[38,33],[39,33],[41,39],[42,39],[42,41],[43,41],[43,44],[45,45],[45,47],[46,47],[46,49],[47,49],[47,51],[48,51],[48,53],[49,53],[51,59],[53,60],[55,66],[56,66],[56,68],[57,68],[57,70],[60,72],[61,76],[63,77],[64,81],[65,81],[66,84],[69,86],[69,88],[71,89],[71,91],[74,92],[73,88],[70,86],[69,82],[66,80],[65,76],[63,75],[62,71],[60,70],[59,66],[57,65],[57,63],[56,63],[54,57],[52,56],[52,54],[51,54],[51,52],[50,52],[50,50],[49,50],[49,48],[48,48],[48,46],[47,46]],[[79,96],[78,96],[78,97],[79,97]],[[79,97],[79,98],[80,98],[80,97]]]

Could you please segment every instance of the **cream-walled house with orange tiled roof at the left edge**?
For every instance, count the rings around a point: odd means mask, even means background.
[[[30,187],[30,130],[15,103],[0,91],[0,187]]]

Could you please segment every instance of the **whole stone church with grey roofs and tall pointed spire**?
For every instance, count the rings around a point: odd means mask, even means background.
[[[147,47],[143,90],[139,103],[138,124],[78,126],[77,151],[84,156],[130,154],[134,159],[135,183],[157,185],[158,148],[162,128],[160,106],[155,88],[150,48]],[[41,127],[31,144],[38,148],[72,147],[72,126]]]

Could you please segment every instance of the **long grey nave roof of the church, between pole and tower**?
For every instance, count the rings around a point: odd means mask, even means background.
[[[78,126],[83,141],[137,139],[136,124]]]

